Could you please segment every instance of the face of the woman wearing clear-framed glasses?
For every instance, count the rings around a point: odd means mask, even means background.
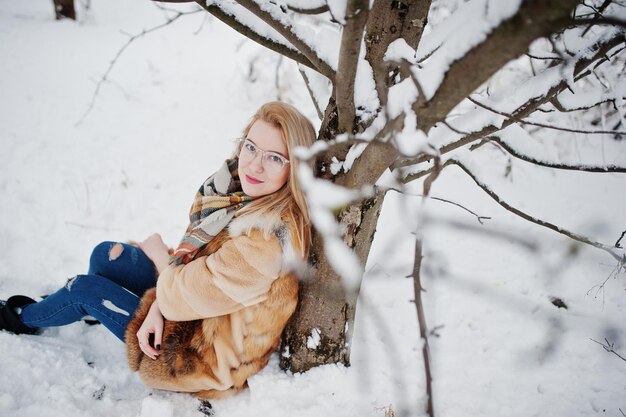
[[[250,152],[255,148],[256,154]],[[289,178],[289,164],[284,164],[278,170],[267,169],[271,164],[268,159],[273,160],[276,168],[280,156],[284,160],[289,159],[287,145],[281,138],[280,130],[262,120],[254,122],[248,132],[247,141],[239,152],[239,179],[243,192],[250,197],[262,197],[285,185]]]

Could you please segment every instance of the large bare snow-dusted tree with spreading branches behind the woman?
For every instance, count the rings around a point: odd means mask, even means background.
[[[315,178],[305,175],[303,184],[316,226],[312,269],[285,332],[282,367],[305,371],[349,363],[360,278],[388,190],[376,183],[387,170],[398,189],[421,179],[427,196],[441,170],[457,166],[506,210],[604,250],[623,267],[619,242],[593,241],[507,203],[490,188],[489,178],[481,177],[478,156],[481,149],[496,147],[509,164],[523,160],[554,169],[626,172],[625,163],[548,157],[560,145],[542,139],[544,131],[556,129],[560,141],[584,134],[623,144],[623,4],[197,3],[296,61],[321,119],[318,144],[301,154],[315,159]],[[572,115],[574,127],[565,124]],[[312,336],[319,340],[311,343]]]

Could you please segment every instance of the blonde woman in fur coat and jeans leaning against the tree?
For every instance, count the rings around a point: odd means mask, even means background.
[[[87,275],[40,302],[10,297],[0,329],[34,334],[92,316],[126,342],[150,387],[201,398],[243,389],[296,307],[293,271],[306,260],[310,226],[292,152],[314,137],[292,106],[263,105],[235,156],[200,187],[173,253],[158,234],[138,247],[103,242]]]

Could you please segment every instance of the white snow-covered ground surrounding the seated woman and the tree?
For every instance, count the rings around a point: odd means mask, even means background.
[[[102,240],[158,231],[175,244],[199,181],[230,154],[229,140],[260,104],[280,97],[316,117],[293,67],[199,13],[134,41],[82,119],[128,34],[165,16],[148,1],[107,0],[81,7],[79,22],[57,22],[51,3],[0,0],[0,297],[53,291],[86,269]],[[495,160],[486,152],[485,161]],[[626,145],[609,153],[623,161]],[[496,162],[484,167],[492,177],[503,171]],[[623,174],[522,166],[513,179],[494,188],[535,215],[609,244],[626,228]],[[411,231],[424,214],[437,219],[424,248],[437,415],[626,413],[626,362],[591,341],[607,338],[626,355],[626,277],[594,288],[612,258],[521,221],[452,168],[433,194],[492,220],[480,226],[436,201],[420,212],[417,198],[389,195],[353,366],[290,375],[275,357],[250,390],[213,402],[217,416],[423,416],[421,342],[405,276]],[[551,296],[569,308],[557,309]],[[0,369],[3,416],[201,415],[188,395],[143,387],[124,346],[101,326],[0,332]]]

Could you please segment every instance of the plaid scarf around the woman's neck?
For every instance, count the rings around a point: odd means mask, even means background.
[[[189,210],[189,226],[178,248],[170,256],[170,265],[187,264],[253,198],[241,191],[237,158],[227,160],[200,186]]]

